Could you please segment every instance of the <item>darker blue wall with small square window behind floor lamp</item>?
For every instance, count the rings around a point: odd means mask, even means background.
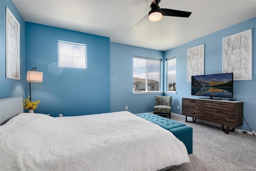
[[[87,45],[87,69],[58,67],[58,40]],[[110,39],[26,22],[26,70],[44,72],[42,83],[31,82],[37,113],[51,116],[110,112]],[[26,83],[29,95],[29,83]]]

